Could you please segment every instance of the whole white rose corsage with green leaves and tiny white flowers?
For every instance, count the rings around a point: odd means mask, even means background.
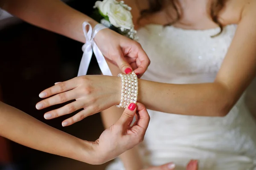
[[[132,40],[138,40],[130,12],[131,7],[126,5],[124,1],[96,1],[93,8],[96,9],[93,19],[121,35],[125,35]]]

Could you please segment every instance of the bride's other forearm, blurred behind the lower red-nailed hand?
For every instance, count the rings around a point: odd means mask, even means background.
[[[105,128],[110,127],[122,115],[123,109],[117,107],[111,107],[107,110],[102,111],[102,121]],[[138,153],[138,148],[135,146],[131,150],[122,153],[119,158],[125,166],[125,170],[141,170],[143,169],[143,162],[141,161],[140,155]]]

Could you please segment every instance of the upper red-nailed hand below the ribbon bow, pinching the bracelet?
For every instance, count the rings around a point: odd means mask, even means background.
[[[105,58],[119,67],[123,73],[132,70],[140,78],[148,68],[150,60],[140,43],[110,29],[103,29],[94,38]]]

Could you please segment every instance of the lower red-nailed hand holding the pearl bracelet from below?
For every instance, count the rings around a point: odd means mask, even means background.
[[[132,123],[133,118],[136,121]],[[93,144],[97,162],[103,164],[143,141],[150,117],[143,104],[130,104],[119,120],[106,129]]]

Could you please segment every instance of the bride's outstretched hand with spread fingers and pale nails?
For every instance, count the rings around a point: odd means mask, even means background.
[[[81,121],[89,115],[93,115],[109,107],[119,104],[121,98],[121,79],[114,76],[86,75],[61,82],[40,93],[41,98],[47,98],[36,104],[37,109],[44,109],[55,104],[61,104],[73,99],[64,107],[49,111],[44,118],[52,119],[75,112],[84,108],[71,118],[62,122],[62,126],[68,126]]]

